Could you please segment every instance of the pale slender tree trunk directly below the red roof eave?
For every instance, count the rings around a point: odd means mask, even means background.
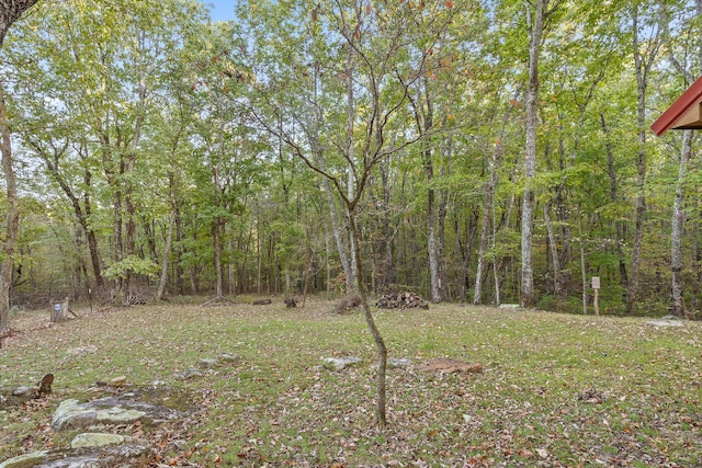
[[[676,195],[672,202],[672,231],[670,233],[670,266],[672,270],[672,313],[686,317],[684,292],[682,287],[682,235],[684,231],[684,180],[688,161],[692,157],[692,130],[682,133],[682,151],[678,169]]]

